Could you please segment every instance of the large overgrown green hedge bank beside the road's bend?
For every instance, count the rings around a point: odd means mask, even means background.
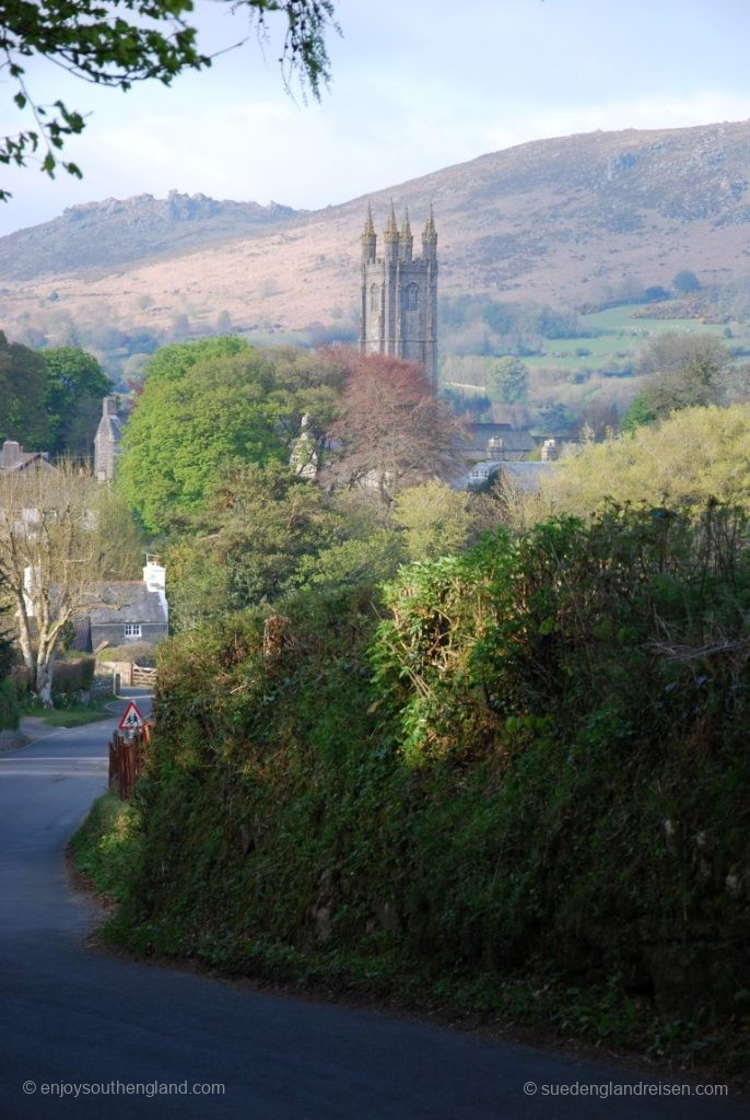
[[[498,531],[385,600],[376,633],[326,587],[275,632],[257,610],[163,644],[111,935],[371,987],[603,984],[691,1053],[747,1040],[748,520]]]

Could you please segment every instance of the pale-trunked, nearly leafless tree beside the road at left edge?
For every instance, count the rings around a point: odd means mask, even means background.
[[[101,488],[60,463],[0,475],[0,579],[16,609],[18,643],[44,703],[64,631],[92,604],[107,542],[99,531]]]

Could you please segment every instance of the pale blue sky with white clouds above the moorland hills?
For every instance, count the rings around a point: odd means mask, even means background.
[[[529,140],[750,118],[748,0],[335,0],[332,81],[284,90],[273,36],[203,73],[128,93],[38,59],[27,84],[87,113],[65,149],[81,183],[0,168],[0,235],[65,207],[176,189],[317,209]],[[247,34],[198,0],[204,49]],[[3,97],[4,91],[4,101]],[[0,84],[0,127],[20,114]]]

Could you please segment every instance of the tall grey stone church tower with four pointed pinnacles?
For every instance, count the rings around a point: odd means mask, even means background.
[[[409,212],[399,232],[391,213],[377,255],[373,214],[362,234],[363,354],[386,354],[421,365],[433,385],[438,381],[438,234],[432,206],[422,233],[422,255],[412,256],[414,239]]]

